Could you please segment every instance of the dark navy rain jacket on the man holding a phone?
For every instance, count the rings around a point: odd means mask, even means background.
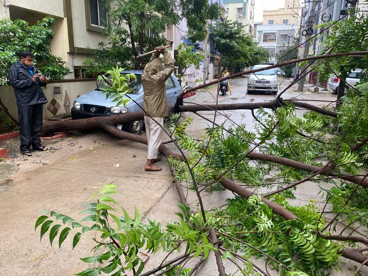
[[[33,67],[34,74],[38,71]],[[15,99],[17,99],[17,106],[36,105],[38,103],[47,103],[45,94],[43,94],[42,86],[46,86],[46,82],[40,82],[36,78],[36,82],[32,81],[32,75],[27,68],[22,67],[18,61],[10,66],[8,79],[14,88]]]

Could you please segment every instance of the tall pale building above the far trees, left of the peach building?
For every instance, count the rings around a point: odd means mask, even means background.
[[[244,30],[252,34],[254,4],[255,0],[225,0],[225,16],[231,21],[236,21],[238,26],[244,26]]]

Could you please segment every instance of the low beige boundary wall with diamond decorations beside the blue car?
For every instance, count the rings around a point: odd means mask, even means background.
[[[53,95],[53,88],[54,86],[60,86],[61,94]],[[96,87],[96,81],[70,81],[70,82],[52,82],[47,84],[47,88],[45,89],[44,93],[48,100],[48,103],[43,105],[43,120],[48,120],[51,117],[54,117],[54,114],[47,109],[47,105],[49,105],[50,101],[54,98],[60,104],[60,108],[57,115],[66,114],[66,109],[64,107],[64,100],[65,100],[65,92],[68,92],[68,97],[70,99],[70,108],[77,98],[77,96],[81,96]],[[13,87],[10,85],[8,86],[1,86],[0,87],[0,98],[4,105],[8,108],[11,115],[14,118],[18,119],[18,109],[17,103],[15,101],[15,95]]]

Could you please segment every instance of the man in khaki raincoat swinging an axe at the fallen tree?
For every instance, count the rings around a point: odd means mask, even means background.
[[[159,162],[159,146],[162,140],[163,117],[169,116],[167,106],[165,81],[174,71],[174,62],[169,51],[164,46],[156,47],[157,52],[152,54],[151,61],[146,65],[142,74],[143,108],[145,110],[144,123],[146,125],[148,158],[145,171],[160,171],[162,168],[153,163]],[[163,54],[163,63],[159,59]],[[152,117],[152,118],[151,118]]]

